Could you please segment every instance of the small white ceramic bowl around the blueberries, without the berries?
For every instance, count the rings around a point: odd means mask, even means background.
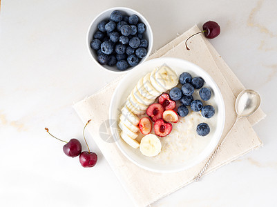
[[[93,19],[93,21],[90,23],[90,26],[88,27],[88,32],[86,34],[86,46],[88,48],[88,52],[89,52],[90,56],[93,58],[95,63],[100,68],[103,68],[104,70],[108,70],[111,72],[127,72],[129,70],[132,70],[136,66],[130,67],[127,70],[117,70],[116,66],[111,67],[111,66],[107,66],[107,65],[101,65],[97,61],[96,51],[93,50],[92,48],[90,48],[90,42],[93,40],[93,34],[98,30],[98,28],[97,28],[98,23],[100,21],[109,19],[111,17],[111,12],[113,12],[114,10],[119,10],[120,12],[122,12],[123,15],[131,16],[132,14],[137,14],[137,17],[140,18],[140,21],[145,24],[146,31],[144,32],[144,38],[148,41],[149,46],[147,48],[147,55],[140,60],[140,63],[142,63],[145,59],[147,59],[147,57],[149,57],[149,55],[151,54],[152,47],[153,47],[153,32],[152,32],[151,26],[150,26],[149,22],[142,16],[142,14],[140,14],[139,12],[137,12],[135,10],[132,10],[131,8],[125,8],[125,7],[109,8],[108,10],[105,10],[104,12],[98,14],[97,17],[95,17],[95,19]],[[140,63],[138,63],[138,65],[140,65]]]

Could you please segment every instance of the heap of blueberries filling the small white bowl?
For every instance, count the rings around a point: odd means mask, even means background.
[[[146,56],[148,41],[143,35],[146,26],[136,14],[126,16],[115,10],[111,18],[100,21],[97,28],[90,47],[97,51],[100,64],[116,65],[118,70],[126,70]]]

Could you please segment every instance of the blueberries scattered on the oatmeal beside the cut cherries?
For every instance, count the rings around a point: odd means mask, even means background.
[[[189,114],[189,109],[187,106],[191,106],[191,110],[198,112],[201,111],[201,115],[207,119],[213,117],[215,114],[215,109],[211,105],[203,106],[202,101],[208,101],[211,98],[211,90],[209,88],[202,88],[204,85],[204,80],[202,77],[194,77],[192,78],[189,72],[183,72],[179,81],[182,84],[182,88],[172,88],[169,92],[169,96],[174,101],[180,100],[182,103],[181,106],[178,107],[178,115],[180,117],[185,117]],[[200,89],[201,88],[201,89]],[[199,90],[200,98],[202,99],[193,99],[193,92],[195,89]],[[206,123],[198,124],[196,128],[196,132],[200,136],[206,136],[210,132],[209,125]]]

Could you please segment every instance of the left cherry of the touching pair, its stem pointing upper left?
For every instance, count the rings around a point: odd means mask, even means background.
[[[50,132],[48,130],[48,128],[45,128],[45,130],[48,132],[49,135]],[[52,137],[54,137],[53,135],[51,135]],[[58,139],[57,137],[54,137],[55,139]],[[64,141],[61,139],[58,139],[59,141]],[[66,144],[63,147],[64,153],[69,156],[69,157],[77,157],[78,155],[80,155],[80,153],[82,152],[82,145],[79,142],[78,139],[70,139],[68,142],[66,142]]]

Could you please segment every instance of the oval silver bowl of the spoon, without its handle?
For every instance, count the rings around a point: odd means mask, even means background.
[[[249,117],[260,107],[260,95],[255,90],[242,90],[236,99],[238,117]]]

